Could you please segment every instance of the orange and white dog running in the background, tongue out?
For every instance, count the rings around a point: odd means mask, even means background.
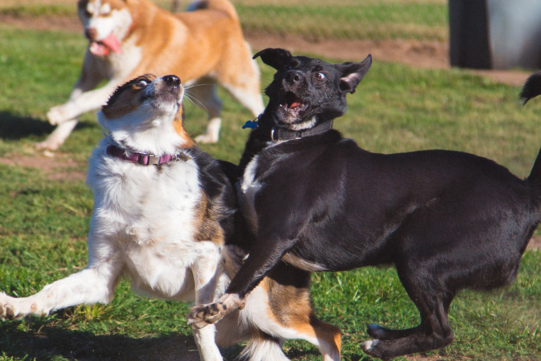
[[[83,69],[67,103],[47,112],[58,127],[38,149],[58,149],[79,115],[103,106],[115,87],[139,74],[177,74],[185,84],[197,84],[190,93],[209,118],[198,142],[218,140],[215,83],[255,116],[264,109],[259,69],[227,0],[195,1],[175,15],[148,0],[79,0],[78,15],[89,40]],[[102,81],[107,83],[96,88]]]

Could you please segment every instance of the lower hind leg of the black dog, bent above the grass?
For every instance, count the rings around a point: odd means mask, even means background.
[[[402,279],[402,283],[420,312],[421,324],[406,330],[368,326],[368,334],[375,338],[363,343],[363,349],[368,355],[391,360],[400,355],[438,349],[453,341],[447,312],[454,294],[429,291],[431,287],[427,287],[427,283],[424,283],[423,289],[418,289],[408,280]]]

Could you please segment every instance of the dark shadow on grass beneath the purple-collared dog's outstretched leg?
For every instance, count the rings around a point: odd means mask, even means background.
[[[20,330],[19,322],[0,324],[0,350],[24,360],[164,360],[198,361],[193,337],[162,335],[133,338],[126,335],[94,335],[56,326]],[[1,352],[0,352],[1,353]]]

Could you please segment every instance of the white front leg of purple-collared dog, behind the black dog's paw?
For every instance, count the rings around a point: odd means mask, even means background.
[[[192,266],[196,286],[196,305],[214,301],[217,293],[223,292],[223,266],[217,249],[209,251],[206,258],[200,258]],[[216,346],[216,327],[192,328],[201,361],[221,361],[222,356]]]

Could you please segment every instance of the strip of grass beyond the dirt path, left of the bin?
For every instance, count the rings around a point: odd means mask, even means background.
[[[247,32],[295,33],[309,40],[447,39],[445,4],[359,1],[307,7],[294,1],[280,5],[240,1],[237,10]]]

